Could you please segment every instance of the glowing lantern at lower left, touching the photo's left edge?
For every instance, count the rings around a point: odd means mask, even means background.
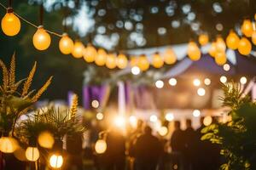
[[[3,153],[13,153],[18,148],[18,143],[14,138],[2,137],[0,139],[0,150]]]

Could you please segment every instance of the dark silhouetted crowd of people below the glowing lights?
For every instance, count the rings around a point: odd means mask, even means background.
[[[202,119],[201,119],[202,120]],[[107,150],[95,155],[97,170],[215,170],[220,165],[218,144],[201,140],[201,127],[194,129],[186,120],[185,130],[174,122],[170,139],[154,135],[143,121],[125,136],[119,128],[106,133]]]

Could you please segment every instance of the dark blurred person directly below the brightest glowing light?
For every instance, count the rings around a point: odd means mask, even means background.
[[[107,150],[104,154],[104,161],[107,170],[125,169],[125,137],[119,129],[113,128],[108,133]]]

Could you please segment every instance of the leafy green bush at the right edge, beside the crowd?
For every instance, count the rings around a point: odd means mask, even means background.
[[[224,106],[230,107],[229,122],[217,122],[202,129],[201,139],[220,144],[226,162],[224,170],[256,169],[256,103],[241,94],[239,84],[224,84]]]

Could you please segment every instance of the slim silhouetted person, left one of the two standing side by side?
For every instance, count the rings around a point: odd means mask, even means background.
[[[180,122],[174,122],[174,131],[171,138],[171,147],[172,147],[172,162],[178,165],[178,169],[183,169],[184,166],[184,133],[180,128]],[[181,168],[180,168],[181,167]]]

